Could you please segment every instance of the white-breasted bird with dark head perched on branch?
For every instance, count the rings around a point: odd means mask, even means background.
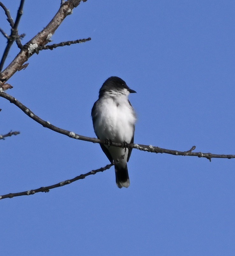
[[[128,100],[130,89],[120,77],[111,76],[99,90],[99,98],[92,107],[92,122],[98,139],[105,141],[101,149],[114,165],[118,188],[130,185],[127,162],[132,148],[126,144],[134,143],[136,113]],[[112,146],[112,142],[123,144],[122,147]]]

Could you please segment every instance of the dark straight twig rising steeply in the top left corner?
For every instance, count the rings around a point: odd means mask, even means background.
[[[18,25],[19,25],[20,18],[23,14],[24,2],[25,2],[25,0],[20,1],[19,9],[18,9],[17,16],[16,16],[16,21],[14,23],[14,26],[11,28],[11,35],[8,38],[8,42],[7,42],[6,48],[5,48],[4,53],[3,53],[3,57],[2,57],[1,62],[0,62],[0,72],[3,69],[5,60],[6,60],[7,55],[9,53],[10,49],[11,49],[12,44],[14,43],[14,41],[16,39],[18,39],[18,30],[17,30],[17,28],[18,28]]]

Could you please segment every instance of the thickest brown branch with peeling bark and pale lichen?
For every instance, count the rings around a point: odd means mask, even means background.
[[[73,8],[77,7],[82,1],[85,2],[86,0],[67,0],[62,4],[49,24],[26,43],[10,65],[4,69],[0,74],[0,81],[7,81],[20,69],[28,58],[32,56],[31,53],[34,49],[46,45],[50,41],[50,36],[55,33],[55,30],[60,26],[62,21],[70,15]]]

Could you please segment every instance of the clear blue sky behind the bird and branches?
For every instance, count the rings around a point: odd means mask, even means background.
[[[19,1],[3,1],[15,18]],[[28,1],[26,43],[60,1]],[[135,142],[235,154],[235,2],[95,1],[73,10],[53,43],[8,90],[52,124],[94,137],[91,108],[102,83],[120,76],[137,94]],[[9,33],[4,12],[0,27]],[[6,40],[0,36],[0,56]],[[12,48],[7,63],[18,53]],[[6,63],[6,64],[7,64]],[[47,186],[109,163],[98,144],[57,134],[0,98],[0,194]],[[132,151],[130,187],[114,168],[49,193],[0,201],[1,255],[234,255],[235,160]]]

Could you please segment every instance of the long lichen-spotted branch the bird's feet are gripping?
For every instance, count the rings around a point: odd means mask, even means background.
[[[76,134],[72,131],[64,130],[59,127],[56,127],[52,125],[49,121],[45,121],[41,119],[40,117],[36,116],[28,107],[23,105],[21,102],[19,102],[16,98],[12,97],[11,95],[4,93],[3,91],[0,91],[0,97],[3,97],[16,105],[18,108],[20,108],[26,115],[28,115],[30,118],[32,118],[34,121],[37,123],[41,124],[43,127],[46,127],[50,130],[53,130],[55,132],[61,133],[63,135],[69,136],[73,139],[77,140],[83,140],[83,141],[89,141],[93,143],[99,143],[99,144],[108,144],[108,142],[101,141],[96,138],[91,138],[91,137],[86,137],[82,136],[79,134]],[[122,143],[116,143],[112,142],[112,145],[115,147],[123,147]],[[177,151],[177,150],[170,150],[170,149],[164,149],[164,148],[159,148],[159,147],[154,147],[152,145],[142,145],[142,144],[127,144],[128,148],[135,148],[141,151],[147,151],[147,152],[152,152],[152,153],[166,153],[170,155],[175,155],[175,156],[197,156],[197,157],[202,157],[209,159],[211,161],[212,158],[235,158],[235,155],[221,155],[221,154],[212,154],[212,153],[202,153],[202,152],[192,152],[195,150],[195,146],[193,146],[190,150],[187,151]]]

